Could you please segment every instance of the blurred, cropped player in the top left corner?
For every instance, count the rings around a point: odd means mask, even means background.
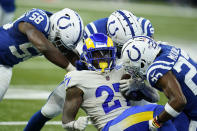
[[[15,0],[0,0],[0,26],[13,21],[15,9]]]

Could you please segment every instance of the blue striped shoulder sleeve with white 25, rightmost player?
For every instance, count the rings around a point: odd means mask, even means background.
[[[159,78],[172,70],[180,55],[179,49],[173,46],[161,45],[161,48],[160,54],[149,66],[146,73],[147,80],[151,86],[154,86]]]

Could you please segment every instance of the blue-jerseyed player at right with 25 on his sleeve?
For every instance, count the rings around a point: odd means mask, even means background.
[[[146,78],[150,85],[168,98],[164,110],[154,117],[152,125],[161,128],[181,112],[191,120],[190,130],[197,129],[197,64],[182,49],[158,44],[139,36],[122,48],[125,69]],[[155,124],[156,123],[156,124]]]

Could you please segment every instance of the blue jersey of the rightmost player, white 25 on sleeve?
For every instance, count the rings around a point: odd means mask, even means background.
[[[184,111],[190,118],[197,120],[197,64],[179,48],[160,46],[162,48],[160,55],[147,71],[148,81],[154,86],[161,76],[171,70],[187,99]]]

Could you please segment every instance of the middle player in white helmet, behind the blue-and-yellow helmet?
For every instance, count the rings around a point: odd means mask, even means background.
[[[84,30],[84,39],[91,34],[103,33],[112,38],[118,47],[117,56],[120,58],[121,47],[134,36],[149,36],[153,37],[154,28],[148,19],[136,17],[127,10],[117,10],[109,17],[98,19],[86,25]],[[79,53],[82,51],[83,43],[78,45]]]

